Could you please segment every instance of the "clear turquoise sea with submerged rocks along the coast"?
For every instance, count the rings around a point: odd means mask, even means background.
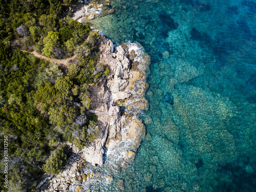
[[[113,0],[90,23],[151,55],[134,163],[100,191],[255,191],[256,1]]]

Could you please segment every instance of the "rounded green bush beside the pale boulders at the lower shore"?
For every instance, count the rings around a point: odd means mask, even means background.
[[[58,174],[61,172],[68,161],[68,157],[65,154],[66,148],[66,145],[61,145],[53,151],[46,164],[42,166],[42,170],[48,174]]]

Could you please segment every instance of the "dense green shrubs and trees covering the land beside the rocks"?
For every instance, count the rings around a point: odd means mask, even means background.
[[[73,3],[0,1],[0,139],[8,136],[10,157],[8,190],[0,173],[4,191],[35,191],[41,174],[65,165],[63,143],[81,149],[97,137],[97,116],[86,115],[89,87],[110,70],[98,63],[98,33],[65,15]],[[65,70],[20,49],[76,59]]]

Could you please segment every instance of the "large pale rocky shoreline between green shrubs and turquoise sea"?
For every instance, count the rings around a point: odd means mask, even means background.
[[[97,139],[81,151],[67,143],[72,152],[67,165],[58,175],[45,175],[37,191],[90,191],[91,183],[111,182],[114,175],[100,173],[96,167],[103,165],[104,158],[109,158],[108,153],[119,153],[109,169],[118,172],[120,168],[127,168],[145,137],[145,126],[139,115],[140,110],[148,109],[144,94],[148,88],[146,72],[150,56],[138,43],[128,42],[114,48],[113,42],[102,35],[99,52],[99,62],[108,65],[111,73],[90,88],[89,113],[98,116]],[[120,143],[125,143],[125,147]],[[120,180],[122,189],[121,183]]]

